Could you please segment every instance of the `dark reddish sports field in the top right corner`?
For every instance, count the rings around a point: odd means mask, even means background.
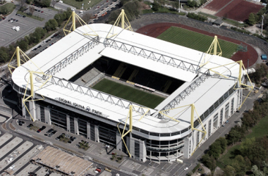
[[[228,6],[219,11],[219,17],[230,18],[237,21],[248,19],[250,13],[257,13],[264,6],[243,0],[233,0]]]

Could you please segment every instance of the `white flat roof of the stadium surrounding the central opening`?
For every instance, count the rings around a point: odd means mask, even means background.
[[[40,68],[44,73],[50,73],[54,77],[42,89],[38,87],[43,82],[35,79],[35,93],[42,94],[55,101],[59,101],[59,99],[62,101],[63,99],[77,103],[90,108],[90,111],[102,112],[102,116],[105,118],[122,122],[128,115],[128,106],[130,104],[135,105],[135,103],[94,89],[80,87],[67,80],[101,56],[154,70],[157,73],[184,80],[185,84],[160,103],[157,108],[151,109],[150,113],[154,113],[154,115],[135,121],[133,125],[150,132],[167,133],[180,131],[190,126],[190,110],[186,110],[179,117],[178,115],[176,116],[178,110],[169,111],[169,115],[175,115],[175,118],[178,118],[181,122],[155,118],[157,113],[175,99],[178,94],[181,94],[185,89],[189,89],[189,86],[193,84],[200,84],[198,87],[191,88],[190,94],[178,106],[195,103],[197,112],[202,114],[226,91],[233,87],[238,77],[238,64],[215,68],[219,65],[233,63],[228,58],[206,56],[210,62],[199,68],[198,65],[200,65],[202,58],[205,57],[205,54],[200,51],[147,37],[143,34],[122,30],[121,27],[115,27],[109,33],[112,25],[108,24],[91,24],[90,27],[99,35],[99,42],[97,42],[97,37],[85,37],[83,35],[85,33],[93,34],[90,29],[85,26],[78,27],[74,32],[71,32],[56,44],[32,58],[32,62],[28,61],[16,68],[12,75],[13,82],[18,87],[25,88],[29,80],[28,70],[38,71],[38,68]],[[109,37],[109,34],[116,35],[104,40],[107,36]],[[202,80],[202,83],[198,83],[198,79],[204,75],[202,73],[205,73],[208,68],[215,68],[215,71],[223,73],[230,79],[212,76]],[[28,89],[30,89],[29,87]],[[139,114],[137,112],[133,114],[135,119],[138,120]]]

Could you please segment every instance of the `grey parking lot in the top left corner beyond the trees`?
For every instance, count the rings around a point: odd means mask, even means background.
[[[16,15],[16,12],[18,11],[17,8],[13,11],[13,13],[8,15],[5,20],[2,20],[0,22],[0,46],[8,46],[12,42],[16,42],[18,39],[25,37],[25,35],[34,32],[36,27],[44,27],[44,23],[46,23],[49,19],[54,18],[54,15],[58,13],[58,11],[52,11],[47,8],[35,7],[38,10],[35,11],[33,15],[44,18],[44,20],[39,21],[32,18],[23,18],[22,16]],[[41,13],[41,10],[43,13]],[[29,10],[25,12],[28,11]],[[11,18],[18,21],[11,23]],[[10,21],[8,22],[8,20]],[[20,30],[13,30],[13,27],[19,27]]]

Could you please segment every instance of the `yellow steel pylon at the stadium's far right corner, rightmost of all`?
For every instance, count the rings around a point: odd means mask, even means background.
[[[224,67],[226,65],[232,65],[235,66],[236,63],[239,64],[239,75],[238,75],[238,78],[236,79],[236,84],[234,85],[233,89],[250,89],[250,92],[248,93],[248,95],[245,97],[243,103],[245,102],[246,99],[248,99],[248,96],[250,95],[250,93],[252,92],[253,90],[253,84],[250,80],[250,77],[248,76],[248,73],[247,73],[247,70],[245,69],[245,66],[243,64],[243,61],[236,61],[236,62],[233,62],[233,63],[228,63],[228,64],[225,64],[225,65],[221,65],[221,66],[218,66],[218,67],[215,67],[215,68],[220,68],[220,67]],[[232,66],[232,67],[233,67]],[[231,67],[231,68],[232,68]],[[210,68],[209,71],[212,71],[213,73],[216,73],[217,75],[220,75],[221,77],[224,77],[224,78],[229,78],[229,77],[226,77],[225,75],[223,75],[226,71],[228,71],[230,68],[226,68],[226,70],[223,72],[223,73],[218,73],[217,71],[214,71],[212,69],[215,69],[215,68]],[[242,77],[243,77],[243,69],[244,69],[244,73],[245,75],[247,75],[248,77],[248,81],[250,82],[250,85],[248,84],[243,84],[242,82]],[[236,85],[239,84],[239,87],[236,88]],[[241,103],[241,105],[239,106],[238,110],[240,110],[240,108],[242,107],[243,103]]]

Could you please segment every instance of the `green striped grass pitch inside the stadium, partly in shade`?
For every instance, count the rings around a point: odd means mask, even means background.
[[[103,79],[98,82],[93,89],[97,89],[101,92],[111,94],[121,99],[126,99],[128,101],[133,101],[143,106],[149,108],[155,108],[159,103],[161,103],[164,98],[144,92],[133,87],[129,87],[111,80]]]

